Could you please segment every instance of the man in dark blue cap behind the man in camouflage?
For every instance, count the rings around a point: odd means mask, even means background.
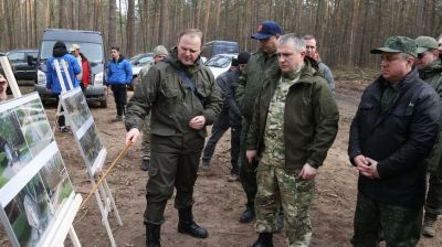
[[[240,181],[248,197],[245,211],[240,217],[240,223],[250,223],[255,216],[254,200],[256,195],[256,168],[257,161],[248,164],[245,157],[245,142],[250,122],[253,116],[253,104],[260,92],[263,79],[272,71],[277,69],[276,44],[282,34],[280,25],[274,21],[264,21],[257,28],[252,39],[260,42],[260,50],[252,54],[246,68],[240,76],[235,100],[243,116],[240,144]]]

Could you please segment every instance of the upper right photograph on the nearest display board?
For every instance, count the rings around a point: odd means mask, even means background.
[[[15,114],[28,147],[35,157],[54,140],[40,99],[18,107]]]

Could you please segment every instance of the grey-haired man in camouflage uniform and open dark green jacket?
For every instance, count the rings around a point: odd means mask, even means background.
[[[256,232],[253,247],[270,247],[280,205],[291,247],[308,246],[308,207],[315,175],[338,131],[339,112],[316,62],[306,57],[304,39],[278,40],[281,71],[270,74],[257,95],[248,135],[246,157],[257,167]]]

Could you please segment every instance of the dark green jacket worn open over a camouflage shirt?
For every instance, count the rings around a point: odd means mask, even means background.
[[[327,82],[309,58],[299,79],[286,96],[284,109],[285,169],[297,170],[305,163],[314,168],[323,164],[338,131],[339,111]],[[264,130],[270,103],[280,80],[281,71],[269,75],[257,95],[253,119],[248,133],[248,150],[264,150]]]

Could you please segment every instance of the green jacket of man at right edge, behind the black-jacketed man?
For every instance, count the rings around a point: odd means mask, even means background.
[[[433,61],[430,66],[419,71],[419,77],[428,83],[438,93],[442,103],[442,64],[441,60]],[[442,119],[441,119],[442,120]],[[438,139],[434,142],[433,150],[425,159],[428,170],[435,171],[442,159],[442,121],[439,125]]]

